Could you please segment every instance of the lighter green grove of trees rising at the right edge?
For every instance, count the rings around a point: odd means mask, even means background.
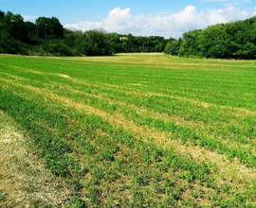
[[[165,53],[181,57],[256,59],[256,17],[192,30],[169,42]]]

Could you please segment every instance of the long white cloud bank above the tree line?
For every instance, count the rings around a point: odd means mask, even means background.
[[[116,8],[109,12],[101,22],[81,22],[67,24],[65,27],[78,30],[104,28],[107,32],[118,32],[133,35],[159,35],[166,38],[178,38],[182,33],[205,28],[218,23],[228,23],[235,20],[244,20],[256,14],[235,7],[228,9],[207,9],[198,11],[194,6],[188,6],[177,13],[158,13],[155,15],[134,15],[130,8]]]

